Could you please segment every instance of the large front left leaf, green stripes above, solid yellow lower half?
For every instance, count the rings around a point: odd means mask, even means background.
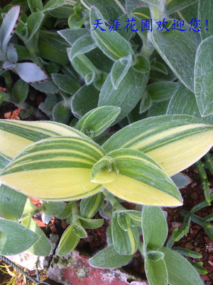
[[[82,138],[47,138],[20,152],[1,172],[0,180],[38,199],[80,199],[102,189],[91,182],[90,172],[104,154],[96,143]]]

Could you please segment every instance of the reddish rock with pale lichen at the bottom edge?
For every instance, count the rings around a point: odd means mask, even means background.
[[[65,257],[55,255],[48,269],[50,279],[62,285],[148,285],[120,269],[97,269],[89,266],[89,257],[76,250]]]

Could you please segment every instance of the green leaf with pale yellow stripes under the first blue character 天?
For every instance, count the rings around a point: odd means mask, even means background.
[[[109,31],[105,27],[105,31],[102,31],[100,28],[95,28],[95,23],[97,20],[97,15],[100,19],[103,19],[102,14],[94,6],[90,9],[90,25],[92,36],[94,41],[96,41],[97,46],[112,60],[117,61],[119,58],[124,58],[125,56],[133,56],[133,50],[119,33],[116,31]],[[102,21],[104,24],[104,22]]]

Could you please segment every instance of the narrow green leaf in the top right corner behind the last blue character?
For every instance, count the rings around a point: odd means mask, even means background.
[[[198,1],[197,19],[200,19],[200,26],[202,26],[200,30],[200,36],[202,40],[213,35],[212,11],[213,11],[212,1],[209,0]],[[207,25],[207,20],[208,20],[208,25]]]

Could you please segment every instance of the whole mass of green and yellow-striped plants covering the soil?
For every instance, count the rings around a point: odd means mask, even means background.
[[[185,258],[201,254],[174,243],[191,221],[213,241],[212,214],[195,214],[213,199],[212,9],[209,0],[2,6],[0,102],[23,120],[0,120],[0,254],[50,253],[38,212],[70,224],[58,245],[68,254],[85,229],[102,227],[99,212],[110,221],[107,247],[92,266],[123,266],[139,250],[150,285],[203,284],[206,269]],[[29,98],[40,93],[37,108]],[[205,199],[180,209],[182,227],[165,243],[162,207],[182,206],[181,171],[194,164]]]

